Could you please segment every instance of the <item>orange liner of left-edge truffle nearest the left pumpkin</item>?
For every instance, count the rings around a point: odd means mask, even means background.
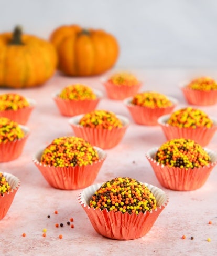
[[[27,101],[29,102],[28,107],[21,108],[18,110],[9,109],[9,110],[0,111],[0,117],[7,117],[10,120],[18,122],[18,124],[20,125],[25,125],[29,120],[32,110],[36,106],[36,101],[34,99],[27,98]]]

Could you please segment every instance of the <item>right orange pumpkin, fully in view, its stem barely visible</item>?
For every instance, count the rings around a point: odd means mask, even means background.
[[[69,76],[101,74],[115,64],[119,52],[117,40],[111,34],[78,25],[58,27],[50,41],[57,49],[59,70]]]

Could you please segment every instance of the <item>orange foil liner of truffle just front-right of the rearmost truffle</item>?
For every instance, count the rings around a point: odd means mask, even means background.
[[[172,106],[166,108],[148,108],[131,104],[133,97],[124,100],[125,106],[128,108],[134,122],[138,125],[155,126],[158,125],[160,116],[169,114],[178,104],[177,99],[168,97],[172,102]]]

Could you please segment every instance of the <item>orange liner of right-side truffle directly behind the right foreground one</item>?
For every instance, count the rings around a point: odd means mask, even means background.
[[[171,126],[167,124],[170,115],[161,116],[158,119],[158,124],[161,126],[167,140],[171,139],[192,139],[202,147],[207,146],[211,141],[212,137],[214,136],[217,130],[217,120],[211,117],[213,121],[213,126],[211,128],[207,127],[198,127],[196,129],[192,128],[179,128],[176,126]]]

